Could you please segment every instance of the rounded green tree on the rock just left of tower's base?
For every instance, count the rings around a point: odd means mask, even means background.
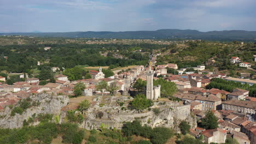
[[[147,109],[152,105],[153,105],[153,101],[147,99],[146,96],[143,94],[136,95],[136,97],[130,103],[131,109],[135,109],[138,112],[140,110]]]

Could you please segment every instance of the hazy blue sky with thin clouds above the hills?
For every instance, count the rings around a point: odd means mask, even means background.
[[[256,31],[256,0],[0,0],[0,32]]]

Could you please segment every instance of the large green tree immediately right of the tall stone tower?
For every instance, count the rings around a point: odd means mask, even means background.
[[[178,91],[178,88],[174,82],[166,81],[164,79],[155,80],[154,86],[161,85],[161,97],[171,97],[174,93]]]

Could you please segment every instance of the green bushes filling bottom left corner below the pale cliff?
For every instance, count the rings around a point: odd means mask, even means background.
[[[39,141],[51,143],[57,135],[63,135],[64,143],[81,143],[84,139],[84,131],[79,130],[76,124],[55,124],[51,122],[40,123],[35,127],[22,127],[20,129],[1,129],[0,143],[27,143]]]

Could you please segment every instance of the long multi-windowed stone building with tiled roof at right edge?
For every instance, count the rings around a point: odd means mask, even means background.
[[[222,104],[223,110],[231,110],[239,113],[255,114],[256,102],[255,101],[242,101],[242,100],[228,100]]]

